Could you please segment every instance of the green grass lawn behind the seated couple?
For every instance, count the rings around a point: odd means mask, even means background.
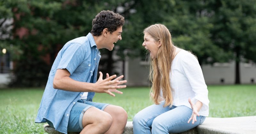
[[[256,85],[208,86],[209,117],[256,115]],[[124,94],[112,97],[96,93],[93,101],[123,107],[128,121],[141,109],[153,104],[149,88],[126,88]],[[43,124],[34,123],[43,95],[42,88],[0,89],[0,133],[44,133]]]

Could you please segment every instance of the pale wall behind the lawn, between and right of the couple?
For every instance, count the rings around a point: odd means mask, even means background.
[[[202,65],[205,83],[208,84],[234,84],[235,62],[214,63]],[[127,86],[148,86],[148,63],[137,59],[127,59],[125,62],[125,79]],[[256,65],[253,63],[240,63],[240,82],[250,84],[251,79],[256,83]],[[220,79],[224,79],[221,83]]]

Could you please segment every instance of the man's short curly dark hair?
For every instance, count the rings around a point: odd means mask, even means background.
[[[101,11],[92,20],[92,35],[100,36],[104,28],[108,28],[110,33],[116,31],[120,26],[124,26],[124,17],[113,11]]]

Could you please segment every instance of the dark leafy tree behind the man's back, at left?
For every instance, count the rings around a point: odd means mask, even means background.
[[[8,13],[1,18],[13,19],[11,38],[4,42],[22,51],[15,53],[17,62],[11,85],[44,86],[62,46],[71,39],[86,36],[95,15],[101,10],[115,10],[117,4],[115,0],[1,1],[4,7],[1,14]]]

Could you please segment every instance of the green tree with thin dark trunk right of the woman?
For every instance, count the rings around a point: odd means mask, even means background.
[[[217,0],[209,3],[214,12],[212,42],[232,53],[229,58],[236,62],[235,84],[240,84],[239,63],[243,60],[256,62],[256,1]]]

